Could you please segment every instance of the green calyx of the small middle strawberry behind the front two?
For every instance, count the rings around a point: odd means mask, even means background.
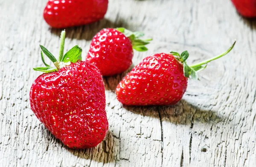
[[[145,40],[139,39],[140,37],[144,36],[143,32],[131,32],[130,30],[125,29],[123,27],[116,28],[116,30],[119,31],[119,32],[122,32],[126,37],[128,37],[131,40],[131,44],[132,44],[133,49],[135,49],[139,52],[145,52],[145,51],[148,50],[148,48],[145,47],[145,45],[150,43],[149,41],[151,41],[152,38],[145,39]]]

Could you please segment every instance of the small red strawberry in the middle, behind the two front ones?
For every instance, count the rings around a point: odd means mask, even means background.
[[[143,52],[151,39],[140,40],[144,34],[124,28],[102,29],[92,40],[86,60],[96,65],[103,76],[124,72],[132,64],[133,49]]]

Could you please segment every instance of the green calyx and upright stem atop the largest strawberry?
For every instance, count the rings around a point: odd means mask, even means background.
[[[44,46],[40,45],[41,59],[46,67],[33,68],[35,71],[41,71],[46,73],[54,72],[54,71],[58,71],[63,67],[69,66],[71,63],[76,63],[78,60],[82,60],[82,57],[81,57],[82,49],[78,45],[74,46],[64,55],[65,35],[66,35],[66,32],[64,30],[61,32],[60,52],[59,52],[58,60]],[[45,63],[43,52],[52,61],[55,67],[52,67],[47,63]]]

